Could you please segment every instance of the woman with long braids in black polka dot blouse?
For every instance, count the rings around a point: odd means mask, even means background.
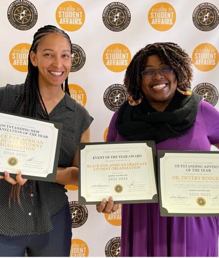
[[[0,177],[0,256],[70,255],[72,219],[65,185],[78,184],[79,142],[93,118],[70,97],[71,40],[46,25],[34,34],[24,84],[0,87],[0,111],[63,124],[56,183]],[[8,203],[9,201],[9,203]]]

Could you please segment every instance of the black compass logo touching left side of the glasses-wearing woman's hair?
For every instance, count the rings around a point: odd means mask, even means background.
[[[112,84],[104,92],[104,104],[111,111],[116,111],[127,100],[127,92],[121,84]]]

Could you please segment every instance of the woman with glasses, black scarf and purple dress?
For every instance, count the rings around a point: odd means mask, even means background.
[[[191,66],[175,43],[139,50],[124,77],[130,96],[114,113],[107,140],[155,140],[158,150],[219,148],[219,112],[192,93]],[[106,199],[97,206],[116,208]],[[122,205],[121,256],[217,257],[218,238],[219,217],[161,217],[158,203]]]

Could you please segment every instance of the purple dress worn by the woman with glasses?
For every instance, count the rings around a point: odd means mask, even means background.
[[[107,141],[127,140],[114,127]],[[186,134],[156,144],[157,149],[210,150],[219,143],[219,111],[205,101],[199,104],[194,126]],[[161,217],[158,203],[122,205],[121,256],[217,257],[219,217]]]

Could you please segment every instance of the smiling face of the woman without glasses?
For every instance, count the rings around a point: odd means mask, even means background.
[[[71,68],[71,46],[60,34],[50,33],[39,42],[36,53],[30,53],[32,65],[37,66],[39,87],[61,86]]]

